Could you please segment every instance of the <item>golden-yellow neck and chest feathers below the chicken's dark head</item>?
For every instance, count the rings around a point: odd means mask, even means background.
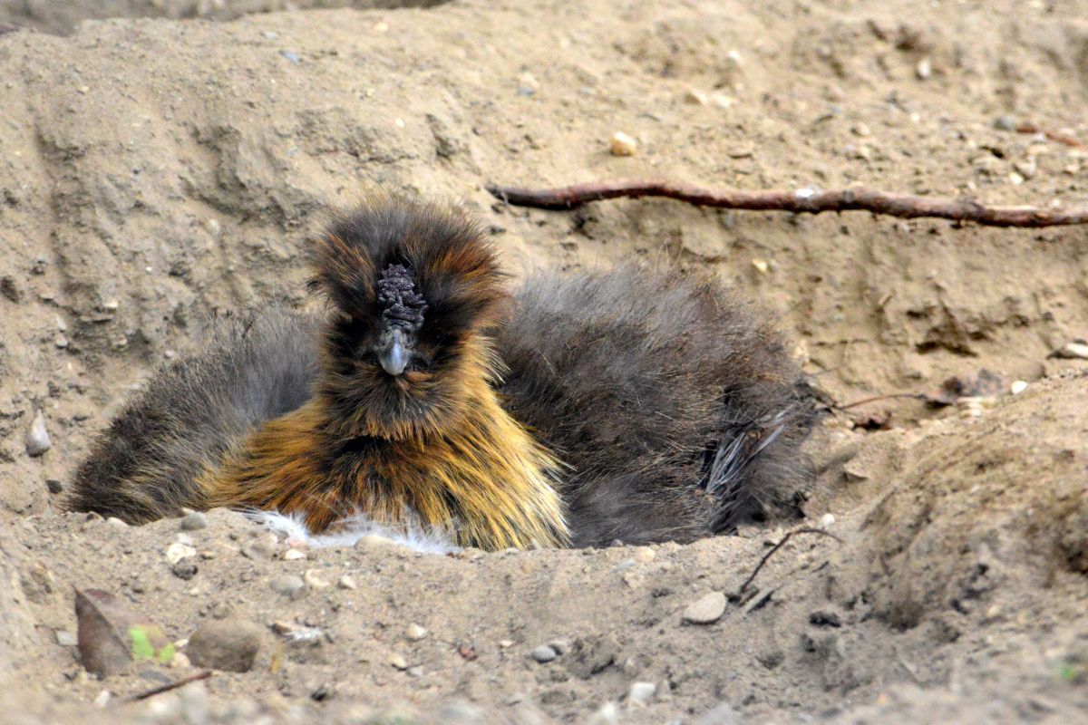
[[[252,434],[200,484],[209,505],[300,513],[314,533],[361,513],[391,526],[446,528],[455,543],[487,550],[565,546],[555,479],[562,466],[503,409],[498,363],[483,339],[465,351],[441,427],[373,436],[364,411],[332,420],[319,396]],[[429,418],[432,420],[432,418]],[[388,433],[387,429],[381,433]]]

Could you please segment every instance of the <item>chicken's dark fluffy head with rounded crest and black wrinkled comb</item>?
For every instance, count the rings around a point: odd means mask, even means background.
[[[312,266],[334,308],[320,390],[345,433],[399,437],[453,423],[466,376],[486,375],[478,352],[506,299],[479,225],[450,207],[380,197],[333,220]],[[392,330],[408,360],[386,374]]]

